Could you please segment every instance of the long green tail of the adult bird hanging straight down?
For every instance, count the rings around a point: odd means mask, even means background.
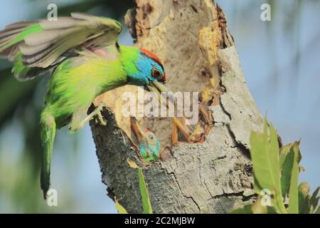
[[[41,190],[46,199],[50,188],[50,167],[53,152],[53,142],[55,140],[55,118],[53,115],[43,110],[41,113],[41,142],[43,147],[41,162]]]

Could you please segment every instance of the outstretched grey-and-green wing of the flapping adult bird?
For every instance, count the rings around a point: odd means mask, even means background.
[[[0,31],[0,56],[15,62],[16,78],[30,79],[85,48],[117,45],[121,31],[118,21],[81,13],[57,21],[21,21]]]

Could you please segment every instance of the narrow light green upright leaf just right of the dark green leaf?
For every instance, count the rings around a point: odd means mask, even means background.
[[[289,187],[289,214],[299,213],[299,199],[298,199],[298,177],[299,177],[299,160],[301,160],[299,142],[294,142],[290,149],[294,153],[294,162],[292,165],[292,175]]]

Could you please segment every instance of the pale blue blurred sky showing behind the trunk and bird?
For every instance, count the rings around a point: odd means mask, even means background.
[[[37,19],[39,15],[31,12],[43,11],[49,3],[55,2],[59,6],[70,1],[38,1],[36,6],[29,2],[1,2],[0,28],[21,19]],[[282,11],[273,14],[272,11],[272,21],[264,22],[260,20],[260,6],[265,1],[218,2],[228,17],[247,85],[261,113],[267,113],[285,143],[302,139],[302,165],[306,172],[302,172],[300,181],[309,182],[314,190],[320,184],[317,143],[320,137],[320,6],[310,4],[311,0],[303,1],[300,18]],[[286,9],[292,2],[282,1],[281,9]],[[290,31],[286,26],[288,20],[295,20]],[[120,43],[132,44],[126,29]],[[42,99],[36,98],[34,102],[41,103]],[[0,133],[0,164],[1,160],[6,160],[9,166],[16,164],[23,147],[22,138],[21,127],[14,119]],[[59,212],[116,212],[114,202],[106,196],[106,187],[101,182],[88,125],[76,135],[68,135],[67,130],[58,131],[54,154],[51,173],[54,188],[59,192]],[[6,178],[6,174],[0,173],[0,178]],[[26,197],[33,197],[33,193],[30,194]],[[0,192],[0,212],[19,212],[3,192]]]

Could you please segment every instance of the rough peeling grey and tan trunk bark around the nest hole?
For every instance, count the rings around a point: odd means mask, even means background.
[[[225,213],[252,202],[249,138],[251,130],[261,130],[263,121],[247,89],[223,11],[209,0],[136,4],[126,24],[137,46],[161,58],[171,90],[200,92],[213,116],[213,128],[205,142],[178,143],[167,150],[170,159],[146,165],[137,157],[128,120],[117,118],[119,102],[110,105],[110,94],[104,95],[100,100],[110,107],[103,112],[108,124],[90,125],[108,195],[121,199],[128,212],[142,212],[137,170],[127,164],[130,158],[144,167],[156,213]],[[162,145],[170,141],[171,122],[143,120]]]

